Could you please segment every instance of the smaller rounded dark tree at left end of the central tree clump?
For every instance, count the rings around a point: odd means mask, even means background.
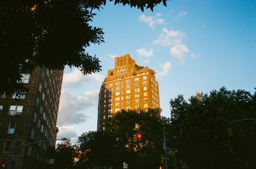
[[[78,167],[120,168],[122,161],[119,159],[120,150],[117,140],[108,132],[90,131],[78,137],[80,158]]]

